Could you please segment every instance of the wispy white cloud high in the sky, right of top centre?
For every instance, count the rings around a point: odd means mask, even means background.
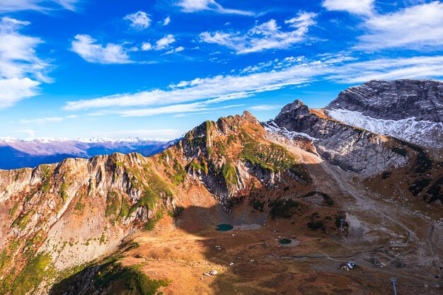
[[[200,41],[228,47],[237,54],[287,49],[306,40],[309,27],[316,23],[313,20],[315,16],[315,13],[299,13],[296,18],[285,22],[295,30],[281,30],[277,22],[272,19],[267,23],[255,25],[246,33],[204,32],[200,34]]]

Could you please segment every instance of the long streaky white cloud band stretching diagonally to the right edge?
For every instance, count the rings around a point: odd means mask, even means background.
[[[334,61],[334,62],[331,62]],[[182,81],[169,88],[117,94],[91,100],[68,102],[66,110],[92,108],[136,108],[120,115],[158,115],[173,112],[199,112],[207,105],[226,100],[248,98],[256,93],[301,86],[318,80],[338,83],[363,83],[371,79],[427,79],[443,76],[443,56],[376,59],[357,62],[345,57],[327,57],[321,61],[288,58],[260,73],[214,76]],[[147,108],[150,106],[151,108]]]

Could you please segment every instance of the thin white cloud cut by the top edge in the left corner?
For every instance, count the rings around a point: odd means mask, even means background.
[[[49,11],[56,8],[73,11],[77,2],[78,0],[1,0],[0,13],[24,10]]]

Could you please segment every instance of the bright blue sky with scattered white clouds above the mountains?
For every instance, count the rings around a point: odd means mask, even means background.
[[[442,79],[443,1],[1,0],[0,137],[175,139]]]

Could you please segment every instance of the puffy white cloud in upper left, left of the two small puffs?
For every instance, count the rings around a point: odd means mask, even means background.
[[[108,43],[103,46],[89,35],[76,35],[71,42],[71,50],[88,62],[98,64],[130,64],[132,63],[123,45]]]

